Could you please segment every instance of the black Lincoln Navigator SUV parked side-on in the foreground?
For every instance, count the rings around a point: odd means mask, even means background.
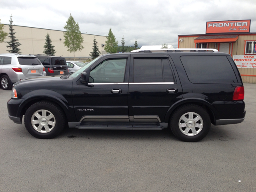
[[[9,118],[37,138],[78,129],[162,130],[195,142],[214,125],[241,123],[244,86],[234,60],[217,50],[99,56],[72,75],[14,84]]]

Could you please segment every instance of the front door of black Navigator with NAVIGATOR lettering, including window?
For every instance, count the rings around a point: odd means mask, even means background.
[[[126,68],[130,60],[124,56],[99,62],[89,72],[88,85],[73,82],[76,118],[78,122],[129,122]]]

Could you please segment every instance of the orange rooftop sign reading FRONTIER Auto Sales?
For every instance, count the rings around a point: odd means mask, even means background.
[[[244,33],[250,32],[251,20],[206,22],[206,33]]]

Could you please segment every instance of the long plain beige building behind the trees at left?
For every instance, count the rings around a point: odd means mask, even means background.
[[[34,28],[34,27],[25,27],[25,26],[13,26],[14,32],[16,34],[16,39],[21,44],[19,46],[20,52],[22,54],[43,54],[44,51],[44,44],[46,39],[46,34],[50,34],[50,38],[52,40],[52,45],[55,46],[54,49],[56,50],[56,56],[63,56],[63,57],[72,57],[73,60],[73,53],[68,52],[67,48],[64,46],[64,31],[59,30],[51,30],[51,29],[42,29],[42,28]],[[4,25],[4,31],[9,33],[9,25]],[[9,35],[9,34],[8,34]],[[76,59],[82,60],[81,57],[89,57],[90,52],[92,52],[93,40],[94,36],[96,41],[98,42],[97,45],[99,46],[99,51],[101,54],[105,54],[103,45],[106,41],[106,36],[100,35],[91,35],[91,34],[82,34],[84,37],[84,42],[82,46],[84,49],[80,52],[75,52]],[[10,38],[7,37],[4,41],[10,41]],[[3,42],[0,43],[0,53],[8,53],[8,48],[6,48],[7,43]]]

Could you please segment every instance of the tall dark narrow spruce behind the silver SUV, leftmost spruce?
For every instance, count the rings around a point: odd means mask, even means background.
[[[10,25],[9,25],[9,30],[10,30],[10,35],[8,35],[8,37],[11,38],[10,41],[7,41],[6,43],[8,43],[8,45],[6,45],[7,48],[10,48],[10,50],[7,50],[9,53],[18,53],[21,54],[20,52],[20,48],[18,48],[18,46],[20,46],[21,44],[18,42],[18,39],[16,39],[16,37],[14,36],[14,34],[16,34],[16,32],[14,32],[14,28],[12,25],[12,15],[10,16],[11,20],[10,21]]]

